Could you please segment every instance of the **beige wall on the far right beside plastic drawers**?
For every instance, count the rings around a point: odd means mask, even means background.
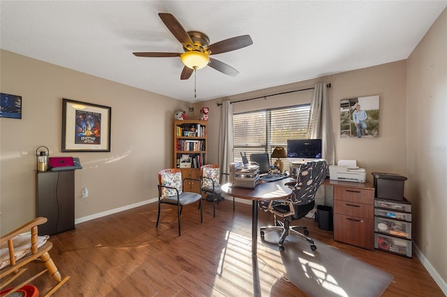
[[[413,240],[447,281],[447,10],[407,60],[406,148]],[[447,290],[444,291],[447,294]]]

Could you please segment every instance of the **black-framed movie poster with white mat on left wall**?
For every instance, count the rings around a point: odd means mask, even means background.
[[[62,151],[110,152],[112,107],[62,99]]]

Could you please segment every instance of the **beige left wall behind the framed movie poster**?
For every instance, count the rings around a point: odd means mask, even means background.
[[[50,157],[80,158],[77,219],[157,197],[156,173],[173,166],[173,111],[184,102],[3,50],[0,59],[1,92],[22,96],[22,119],[0,118],[1,234],[35,217],[40,145]],[[110,153],[61,153],[62,98],[112,107]]]

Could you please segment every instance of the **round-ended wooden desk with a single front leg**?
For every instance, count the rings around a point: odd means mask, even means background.
[[[226,194],[252,200],[251,208],[251,256],[256,257],[258,253],[258,200],[285,199],[292,194],[291,188],[286,183],[295,181],[293,178],[284,178],[280,181],[270,183],[259,183],[254,189],[232,187],[230,183],[222,185],[221,189]]]

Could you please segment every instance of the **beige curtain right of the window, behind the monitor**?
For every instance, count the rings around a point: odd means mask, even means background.
[[[328,87],[325,82],[315,85],[310,105],[307,138],[323,139],[323,158],[328,165],[335,165],[335,145],[330,117]]]

